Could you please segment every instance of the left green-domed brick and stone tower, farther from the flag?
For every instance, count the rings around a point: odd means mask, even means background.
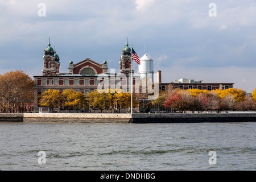
[[[49,41],[48,47],[44,49],[44,69],[43,76],[57,76],[60,75],[60,57],[56,54],[55,48],[51,47]]]

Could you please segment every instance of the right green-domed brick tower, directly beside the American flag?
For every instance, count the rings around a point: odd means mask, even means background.
[[[131,48],[128,44],[128,39],[126,41],[126,46],[123,48],[122,55],[119,61],[120,73],[128,76],[131,73]],[[134,70],[132,71],[134,73]]]

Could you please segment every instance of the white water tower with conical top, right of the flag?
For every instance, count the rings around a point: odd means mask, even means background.
[[[139,76],[141,79],[152,78],[154,81],[154,65],[153,60],[146,53],[141,57],[141,64],[139,65]]]

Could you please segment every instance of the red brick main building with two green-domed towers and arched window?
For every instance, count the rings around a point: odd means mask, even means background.
[[[76,64],[73,61],[69,61],[68,73],[60,73],[60,57],[49,42],[48,47],[44,49],[42,76],[34,76],[35,112],[39,111],[40,95],[48,89],[60,90],[60,92],[63,92],[65,89],[73,89],[76,92],[84,93],[86,96],[89,92],[98,89],[99,84],[104,84],[101,87],[102,89],[125,88],[129,92],[131,82],[129,75],[131,72],[134,73],[134,70],[131,69],[131,61],[131,48],[126,43],[120,56],[119,74],[108,73],[109,68],[106,61],[100,64],[89,58]],[[138,78],[138,76],[133,77],[134,84]]]

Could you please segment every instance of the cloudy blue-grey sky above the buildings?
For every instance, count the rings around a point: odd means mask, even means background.
[[[42,75],[48,38],[61,73],[86,58],[119,72],[128,38],[139,57],[154,60],[162,82],[230,82],[251,93],[255,30],[255,0],[0,0],[0,74]]]

